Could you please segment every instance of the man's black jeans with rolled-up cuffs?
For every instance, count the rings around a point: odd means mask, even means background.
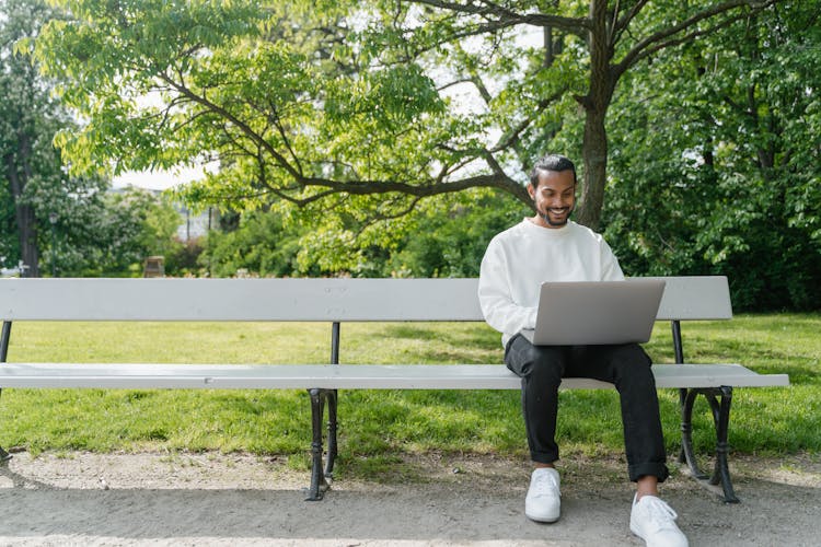
[[[556,415],[563,377],[591,377],[615,385],[631,480],[668,475],[656,380],[650,358],[638,344],[618,346],[533,346],[516,335],[505,348],[505,363],[522,379],[522,412],[531,458],[558,459]]]

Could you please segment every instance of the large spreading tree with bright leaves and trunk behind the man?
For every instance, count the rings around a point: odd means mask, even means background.
[[[595,228],[624,74],[776,2],[63,0],[37,59],[89,120],[59,139],[78,170],[218,160],[189,200],[389,220],[466,188],[530,205],[523,166],[578,139]],[[447,96],[465,86],[470,112]]]

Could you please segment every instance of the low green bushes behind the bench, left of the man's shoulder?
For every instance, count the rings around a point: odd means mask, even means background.
[[[476,277],[490,238],[527,212],[482,190],[426,202],[389,224],[254,211],[233,230],[211,231],[199,263],[215,277]]]

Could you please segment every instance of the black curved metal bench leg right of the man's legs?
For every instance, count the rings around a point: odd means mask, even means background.
[[[713,412],[713,422],[716,427],[716,461],[713,476],[708,477],[698,469],[698,464],[693,452],[693,405],[698,395],[704,395],[709,403]],[[732,387],[722,386],[715,388],[697,388],[681,391],[681,438],[682,452],[680,461],[686,462],[690,473],[696,480],[716,486],[721,484],[724,499],[727,503],[738,503],[739,499],[732,489],[732,479],[728,465],[730,445],[728,443],[730,404],[732,403]]]

